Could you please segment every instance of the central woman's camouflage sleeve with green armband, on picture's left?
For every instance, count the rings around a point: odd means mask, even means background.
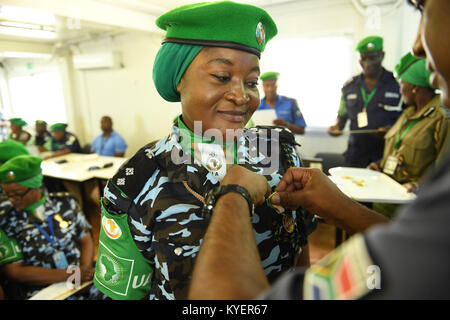
[[[94,284],[113,299],[142,299],[150,291],[154,266],[151,232],[140,219],[145,215],[144,208],[134,201],[149,179],[147,175],[156,170],[156,164],[149,161],[144,150],[122,165],[108,181],[101,200]]]

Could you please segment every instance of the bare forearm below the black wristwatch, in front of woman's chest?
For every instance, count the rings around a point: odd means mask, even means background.
[[[246,200],[217,201],[196,260],[189,299],[251,299],[269,287]]]

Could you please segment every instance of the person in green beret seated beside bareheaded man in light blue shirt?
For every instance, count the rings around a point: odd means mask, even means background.
[[[45,159],[62,156],[69,153],[80,153],[81,146],[78,138],[66,130],[67,124],[55,123],[50,126],[52,138],[44,144],[45,150],[52,151]]]

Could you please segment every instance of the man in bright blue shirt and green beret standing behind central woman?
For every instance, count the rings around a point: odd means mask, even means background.
[[[273,71],[261,75],[265,97],[261,99],[258,110],[274,109],[277,115],[274,125],[286,127],[295,134],[304,134],[306,122],[297,101],[277,93],[279,77],[280,74]]]

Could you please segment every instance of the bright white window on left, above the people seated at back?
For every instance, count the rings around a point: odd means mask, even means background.
[[[21,117],[33,129],[36,120],[45,120],[49,125],[67,121],[59,72],[16,76],[8,82],[12,117]]]

